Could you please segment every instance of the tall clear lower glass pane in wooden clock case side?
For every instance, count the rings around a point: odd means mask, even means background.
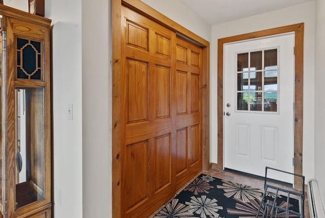
[[[16,209],[44,198],[44,88],[16,88]]]

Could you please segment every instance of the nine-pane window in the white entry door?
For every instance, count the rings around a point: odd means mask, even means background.
[[[237,53],[237,112],[278,113],[279,48]]]

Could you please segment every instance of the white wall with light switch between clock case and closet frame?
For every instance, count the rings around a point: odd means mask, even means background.
[[[45,2],[53,28],[55,217],[111,217],[110,4]]]

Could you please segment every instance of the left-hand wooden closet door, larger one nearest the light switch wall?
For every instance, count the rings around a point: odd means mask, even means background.
[[[121,216],[147,217],[175,193],[176,34],[122,7]]]

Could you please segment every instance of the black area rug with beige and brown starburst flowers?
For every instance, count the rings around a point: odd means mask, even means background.
[[[257,214],[262,196],[263,191],[259,189],[201,174],[156,213],[154,218],[253,218]],[[272,203],[274,197],[274,193],[268,193],[266,199]],[[277,205],[286,206],[286,197],[278,196],[277,199]],[[299,211],[298,205],[298,200],[289,199],[289,209]],[[264,206],[258,217],[262,217],[263,211]],[[268,211],[266,217],[270,217],[270,213]],[[277,217],[285,217],[285,213],[278,212]]]

